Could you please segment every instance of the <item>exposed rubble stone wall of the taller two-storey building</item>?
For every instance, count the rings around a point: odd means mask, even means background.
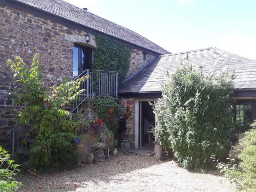
[[[32,56],[39,53],[42,76],[46,86],[51,86],[56,81],[61,82],[62,77],[72,76],[74,42],[96,47],[93,34],[89,34],[91,40],[86,43],[87,34],[86,31],[0,4],[0,138],[12,129],[17,111],[22,110],[22,107],[14,106],[13,101],[8,100],[8,91],[14,85],[6,60],[20,56],[26,63],[31,63]],[[152,58],[153,55],[147,54],[147,60],[143,60],[143,52],[132,48],[127,76]],[[128,122],[131,124],[131,119]],[[133,129],[132,125],[129,127]]]

